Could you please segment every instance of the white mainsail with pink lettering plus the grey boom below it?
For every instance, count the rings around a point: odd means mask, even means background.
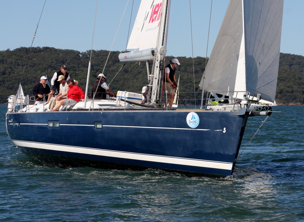
[[[157,46],[157,35],[161,20],[161,0],[141,1],[130,40],[129,52],[119,54],[121,62],[152,60]]]

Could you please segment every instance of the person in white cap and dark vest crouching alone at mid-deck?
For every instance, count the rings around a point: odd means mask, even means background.
[[[91,96],[95,99],[105,99],[107,97],[106,94],[111,95],[112,97],[115,96],[112,90],[109,89],[109,86],[107,83],[105,83],[107,78],[105,78],[105,75],[103,73],[100,73],[97,76],[97,81],[94,83],[92,88]]]

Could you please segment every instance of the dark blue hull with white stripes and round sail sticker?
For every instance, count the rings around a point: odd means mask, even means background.
[[[233,173],[246,121],[233,112],[67,111],[7,113],[10,139],[51,167]],[[59,124],[59,125],[58,125]]]

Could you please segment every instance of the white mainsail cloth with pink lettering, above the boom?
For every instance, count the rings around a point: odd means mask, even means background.
[[[141,1],[127,49],[145,50],[156,48],[159,22],[161,20],[161,0]]]

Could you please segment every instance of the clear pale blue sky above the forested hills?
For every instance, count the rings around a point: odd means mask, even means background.
[[[126,48],[132,0],[113,44],[113,51]],[[91,49],[97,0],[47,0],[33,47]],[[99,0],[93,49],[110,50],[127,0]],[[229,0],[213,0],[209,56]],[[0,0],[0,50],[30,47],[44,0]],[[135,19],[140,0],[134,0]],[[193,56],[206,56],[211,0],[191,0]],[[188,0],[171,0],[167,55],[192,57]],[[285,0],[281,52],[304,55],[304,1]],[[133,23],[132,23],[133,24]],[[131,28],[132,29],[132,25]]]

